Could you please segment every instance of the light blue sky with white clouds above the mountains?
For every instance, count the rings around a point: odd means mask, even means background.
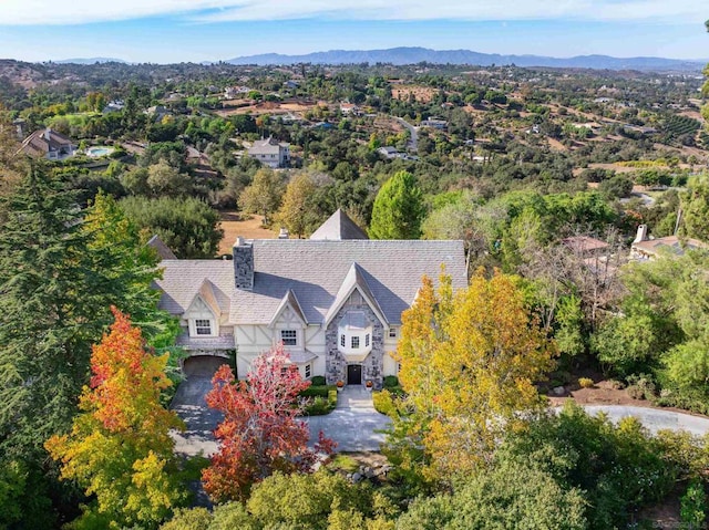
[[[0,0],[0,58],[218,61],[423,46],[709,58],[707,0]]]

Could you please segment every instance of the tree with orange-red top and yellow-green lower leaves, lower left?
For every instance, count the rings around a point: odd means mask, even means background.
[[[172,384],[164,374],[167,355],[147,352],[140,328],[115,308],[113,314],[110,332],[93,347],[81,413],[69,434],[51,437],[45,447],[61,461],[62,479],[95,496],[83,520],[154,527],[184,498],[169,436],[184,426],[160,403],[161,389]]]

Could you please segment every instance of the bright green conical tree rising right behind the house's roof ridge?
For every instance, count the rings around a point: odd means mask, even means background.
[[[410,173],[399,172],[377,194],[369,236],[372,239],[419,239],[424,214],[415,178]]]

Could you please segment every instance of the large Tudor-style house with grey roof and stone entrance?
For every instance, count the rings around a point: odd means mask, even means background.
[[[422,276],[436,280],[444,266],[454,288],[466,284],[462,241],[369,240],[339,210],[310,239],[238,238],[233,258],[164,259],[157,285],[161,308],[181,319],[178,344],[236,351],[239,377],[282,342],[306,378],[381,387],[398,373],[391,353]]]

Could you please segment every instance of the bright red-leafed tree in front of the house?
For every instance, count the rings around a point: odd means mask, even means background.
[[[335,443],[322,433],[308,447],[308,426],[298,420],[298,393],[310,382],[300,377],[282,344],[259,355],[246,381],[235,381],[229,366],[212,380],[207,405],[224,413],[214,434],[220,440],[212,465],[202,472],[205,490],[215,500],[243,500],[254,482],[274,471],[309,471],[318,453],[332,453]]]

